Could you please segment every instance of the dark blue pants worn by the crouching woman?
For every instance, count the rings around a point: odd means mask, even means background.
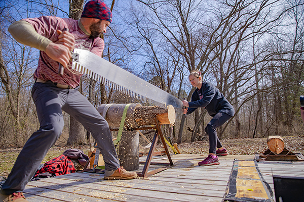
[[[222,147],[217,137],[216,129],[231,118],[232,116],[225,113],[217,113],[207,124],[205,131],[209,136],[209,153],[216,154],[216,148]]]

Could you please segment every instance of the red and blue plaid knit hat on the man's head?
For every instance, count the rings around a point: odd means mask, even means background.
[[[101,0],[92,0],[89,1],[81,17],[84,18],[97,18],[100,20],[112,21],[112,12],[110,8]]]

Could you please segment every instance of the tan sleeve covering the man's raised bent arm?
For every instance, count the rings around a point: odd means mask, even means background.
[[[40,51],[45,51],[48,44],[52,42],[37,33],[30,23],[23,20],[14,22],[8,30],[19,43],[37,48]]]

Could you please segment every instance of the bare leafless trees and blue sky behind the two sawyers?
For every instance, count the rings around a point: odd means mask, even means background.
[[[0,148],[23,146],[39,128],[30,92],[39,52],[16,42],[9,25],[42,15],[79,19],[86,2],[0,2]],[[236,111],[218,129],[221,139],[302,136],[304,1],[104,2],[111,7],[113,20],[101,36],[103,58],[187,100],[194,91],[187,76],[194,69],[201,71],[203,80],[216,85]],[[138,103],[86,77],[80,91],[96,108],[107,103]],[[93,141],[68,114],[64,113],[64,119],[56,144]],[[173,142],[202,140],[210,119],[205,109],[186,118],[177,110],[175,125],[164,131]]]

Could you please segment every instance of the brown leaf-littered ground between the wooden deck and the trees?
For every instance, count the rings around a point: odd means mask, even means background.
[[[293,153],[304,154],[304,136],[289,136],[282,137],[285,147]],[[267,147],[267,138],[237,138],[237,139],[223,139],[222,145],[227,149],[230,155],[254,155],[255,153],[264,153]],[[51,159],[60,156],[66,149],[71,147],[66,146],[53,146],[47,156],[44,158],[42,164],[50,161]],[[84,151],[88,154],[90,147],[79,146],[73,147]],[[159,144],[157,148],[162,149]],[[13,168],[13,165],[18,157],[22,148],[7,148],[0,149],[0,176],[7,177]],[[197,141],[178,144],[178,149],[182,154],[198,154],[207,155],[209,152],[209,141]],[[169,148],[170,152],[172,150]]]

